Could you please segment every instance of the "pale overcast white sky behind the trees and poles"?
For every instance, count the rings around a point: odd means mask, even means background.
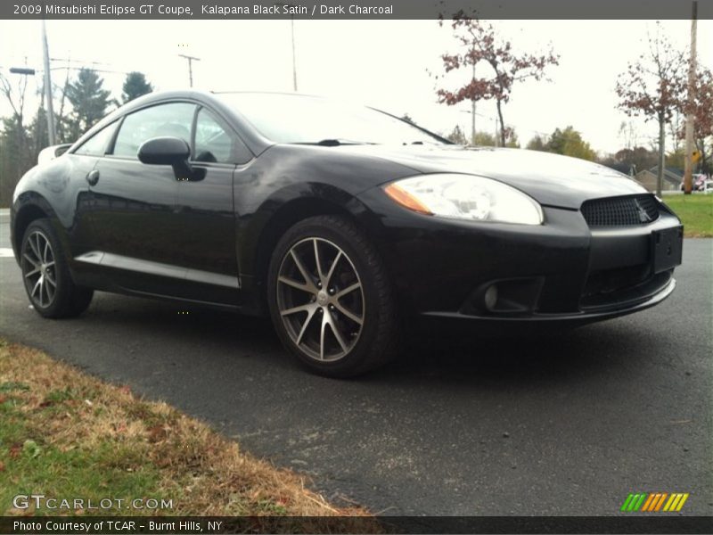
[[[549,81],[514,86],[504,107],[505,124],[521,144],[536,134],[573,126],[594,150],[616,152],[624,145],[614,92],[619,73],[647,50],[655,21],[491,21],[512,40],[514,51],[545,51],[552,45],[559,66]],[[47,21],[53,84],[63,84],[72,66],[102,70],[105,87],[119,98],[125,73],[139,70],[156,89],[292,91],[291,21]],[[670,40],[690,42],[690,21],[662,21]],[[0,21],[0,70],[42,69],[39,21]],[[397,115],[408,113],[425,128],[447,134],[459,125],[471,131],[470,103],[438,104],[440,55],[457,49],[451,29],[437,21],[294,21],[299,93],[337,96]],[[698,22],[698,59],[713,69],[713,21]],[[485,69],[485,67],[482,67]],[[76,73],[76,70],[71,71]],[[458,86],[458,74],[448,85]],[[30,83],[37,89],[41,80]],[[31,107],[37,105],[29,103]],[[0,115],[9,108],[0,102]],[[494,103],[479,103],[478,130],[495,131]],[[634,119],[635,139],[650,146],[653,122]]]

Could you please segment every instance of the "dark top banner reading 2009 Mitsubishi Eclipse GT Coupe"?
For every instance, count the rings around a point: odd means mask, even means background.
[[[713,0],[698,18],[713,19]],[[429,20],[463,11],[479,19],[689,19],[689,0],[2,0],[0,19]],[[603,38],[603,37],[602,37]]]

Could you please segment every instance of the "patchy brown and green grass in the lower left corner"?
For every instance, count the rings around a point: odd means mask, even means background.
[[[84,498],[95,506],[108,497],[123,503],[109,510],[14,508],[18,494],[44,494],[58,503]],[[158,510],[128,508],[136,498],[171,504]],[[127,387],[102,383],[39,350],[0,338],[0,514],[323,517],[367,512],[332,506],[307,490],[299,474],[251,457],[236,442],[165,403],[139,399]],[[358,531],[364,531],[365,521]],[[342,519],[334,531],[347,526]],[[300,529],[324,531],[308,523]]]

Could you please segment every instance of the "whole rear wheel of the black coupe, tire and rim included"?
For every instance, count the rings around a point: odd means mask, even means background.
[[[92,302],[94,291],[74,284],[64,248],[49,219],[36,219],[25,230],[20,268],[29,302],[42,317],[75,317]]]

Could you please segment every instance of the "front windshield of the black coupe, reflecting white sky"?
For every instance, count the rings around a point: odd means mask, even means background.
[[[442,144],[420,128],[387,113],[306,95],[217,95],[260,134],[293,144]]]

